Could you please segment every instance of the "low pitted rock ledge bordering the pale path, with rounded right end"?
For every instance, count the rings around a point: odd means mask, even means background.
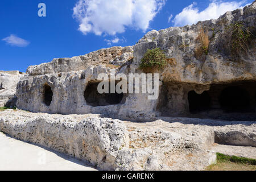
[[[115,158],[119,148],[129,145],[126,127],[118,120],[77,120],[63,115],[16,113],[1,114],[1,131],[14,138],[86,160],[101,169],[117,168]]]

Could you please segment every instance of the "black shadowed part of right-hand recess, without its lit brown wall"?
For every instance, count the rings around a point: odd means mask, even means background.
[[[189,92],[188,102],[189,112],[197,116],[228,121],[255,121],[256,82],[212,84],[210,90],[201,95]]]

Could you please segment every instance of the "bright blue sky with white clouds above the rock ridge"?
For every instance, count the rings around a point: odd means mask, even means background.
[[[152,29],[192,24],[253,0],[1,0],[0,70],[133,46]],[[46,4],[46,17],[38,4]],[[75,7],[75,9],[74,9]]]

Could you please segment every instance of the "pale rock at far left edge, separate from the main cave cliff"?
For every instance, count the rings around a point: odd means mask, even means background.
[[[0,71],[0,107],[16,105],[16,85],[23,75],[19,71]]]

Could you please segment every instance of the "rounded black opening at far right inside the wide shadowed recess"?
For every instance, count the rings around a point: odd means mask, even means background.
[[[226,113],[250,112],[250,100],[250,94],[240,86],[228,86],[219,97],[221,109]]]

